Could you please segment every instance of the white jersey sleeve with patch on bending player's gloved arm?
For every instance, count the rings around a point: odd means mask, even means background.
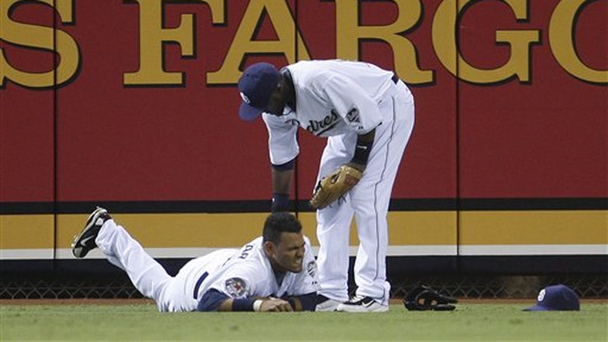
[[[357,134],[369,133],[382,122],[378,104],[348,77],[331,75],[320,89],[348,127]]]

